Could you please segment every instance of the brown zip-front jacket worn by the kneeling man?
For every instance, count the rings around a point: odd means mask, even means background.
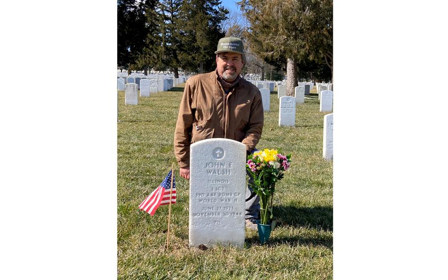
[[[185,84],[174,132],[179,167],[190,166],[190,144],[209,138],[240,141],[252,151],[263,130],[258,88],[241,78],[225,97],[216,71],[191,77]]]

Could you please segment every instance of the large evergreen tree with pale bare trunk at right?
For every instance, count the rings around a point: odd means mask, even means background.
[[[332,0],[325,3],[332,6]],[[297,66],[320,58],[318,53],[324,50],[322,46],[316,46],[322,34],[319,29],[323,29],[324,25],[322,1],[242,0],[239,5],[251,24],[246,32],[251,50],[266,62],[286,61],[286,93],[294,95]],[[325,16],[329,14],[329,9],[326,9]]]

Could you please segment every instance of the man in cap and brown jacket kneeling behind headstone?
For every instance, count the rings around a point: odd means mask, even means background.
[[[226,138],[246,145],[250,154],[263,130],[263,105],[258,88],[240,76],[244,66],[243,41],[224,37],[218,42],[216,70],[191,77],[179,107],[174,153],[182,177],[190,178],[190,144]],[[246,190],[246,226],[256,229],[259,198]]]

